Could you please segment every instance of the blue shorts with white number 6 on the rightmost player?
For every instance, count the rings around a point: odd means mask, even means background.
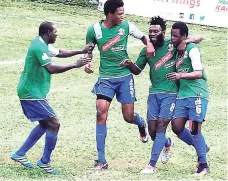
[[[187,118],[188,120],[202,122],[207,112],[207,104],[208,100],[200,97],[177,99],[173,119]]]

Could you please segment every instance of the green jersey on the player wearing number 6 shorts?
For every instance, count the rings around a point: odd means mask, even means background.
[[[187,44],[184,57],[178,59],[176,63],[177,72],[194,72],[193,60],[191,60],[189,56],[189,54],[192,53],[190,51],[193,51],[193,49],[198,50],[198,46],[194,43]],[[203,97],[207,99],[209,97],[209,90],[206,82],[207,79],[200,60],[198,60],[198,64],[200,64],[201,68],[197,70],[203,71],[203,77],[195,80],[180,79],[180,89],[177,95],[178,98],[184,99],[188,97]]]

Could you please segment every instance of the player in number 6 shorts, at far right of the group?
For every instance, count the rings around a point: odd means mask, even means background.
[[[187,36],[188,27],[185,23],[173,24],[171,37],[175,47]],[[206,115],[209,90],[199,47],[196,44],[187,45],[184,57],[178,59],[176,68],[177,72],[167,74],[168,80],[179,80],[180,83],[172,130],[182,141],[195,147],[199,161],[195,174],[205,175],[210,170],[206,159],[207,146],[201,127]],[[191,132],[185,128],[187,120],[192,120]]]

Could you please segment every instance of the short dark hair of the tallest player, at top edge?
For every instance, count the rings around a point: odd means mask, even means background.
[[[105,16],[108,15],[108,13],[114,14],[117,8],[123,7],[124,2],[122,0],[107,0],[104,4],[104,14]]]

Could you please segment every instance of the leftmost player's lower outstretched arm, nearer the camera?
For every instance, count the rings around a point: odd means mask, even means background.
[[[57,73],[63,73],[66,72],[68,70],[71,70],[73,68],[80,68],[84,65],[86,65],[87,63],[91,62],[91,58],[88,57],[81,57],[80,59],[78,59],[76,62],[72,63],[72,64],[68,64],[68,65],[56,65],[54,63],[49,63],[47,65],[44,66],[44,68],[50,73],[50,74],[57,74]]]

